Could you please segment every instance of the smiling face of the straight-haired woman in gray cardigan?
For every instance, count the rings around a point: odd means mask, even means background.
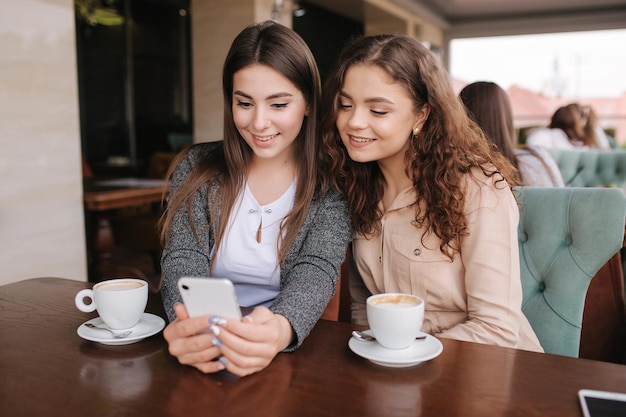
[[[307,103],[284,75],[260,64],[237,71],[232,111],[235,126],[254,158],[293,158]]]

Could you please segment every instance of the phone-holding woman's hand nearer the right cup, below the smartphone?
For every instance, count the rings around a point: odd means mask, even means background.
[[[220,362],[239,376],[264,369],[294,338],[289,321],[266,307],[255,308],[241,321],[213,321],[211,331],[221,342]]]

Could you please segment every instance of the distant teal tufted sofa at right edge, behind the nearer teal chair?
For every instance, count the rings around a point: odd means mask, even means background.
[[[626,185],[626,150],[548,150],[556,160],[566,185],[572,187]]]

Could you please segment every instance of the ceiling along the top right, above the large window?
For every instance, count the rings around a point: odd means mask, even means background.
[[[309,0],[362,21],[366,0]],[[374,3],[380,0],[371,1]],[[626,28],[626,0],[388,0],[448,39]]]

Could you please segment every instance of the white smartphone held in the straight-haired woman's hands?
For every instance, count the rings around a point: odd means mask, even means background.
[[[235,286],[227,278],[182,277],[178,291],[190,317],[215,315],[241,320]]]

